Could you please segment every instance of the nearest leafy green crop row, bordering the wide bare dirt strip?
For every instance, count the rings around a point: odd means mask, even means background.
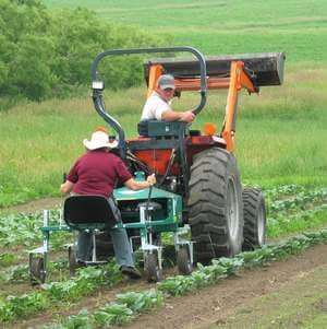
[[[303,251],[311,245],[327,243],[327,231],[304,234],[284,243],[265,246],[255,251],[238,255],[234,258],[213,260],[210,266],[198,266],[198,270],[189,277],[177,275],[158,283],[157,290],[129,292],[117,295],[114,302],[106,304],[89,314],[83,309],[80,314],[62,319],[58,324],[44,326],[44,329],[107,328],[131,321],[138,314],[162,304],[165,298],[213,285],[217,281],[235,273],[240,268],[252,268]]]

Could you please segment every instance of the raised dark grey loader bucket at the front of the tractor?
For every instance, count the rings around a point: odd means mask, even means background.
[[[231,62],[243,61],[245,70],[252,75],[256,86],[282,84],[284,59],[283,52],[208,56],[205,58],[209,78],[228,78]],[[152,59],[144,64],[146,81],[148,81],[149,67],[153,64],[161,64],[165,73],[170,73],[175,79],[192,79],[199,75],[199,66],[196,59]]]

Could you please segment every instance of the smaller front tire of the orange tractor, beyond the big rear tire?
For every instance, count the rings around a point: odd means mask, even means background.
[[[243,250],[254,250],[266,243],[266,208],[261,189],[244,188],[242,192],[244,214]]]

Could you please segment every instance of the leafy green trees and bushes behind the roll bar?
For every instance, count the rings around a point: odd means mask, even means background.
[[[43,101],[90,84],[94,57],[114,48],[160,46],[167,39],[136,27],[104,22],[83,8],[50,11],[38,0],[0,0],[0,97]],[[101,66],[107,86],[142,80],[138,57]]]

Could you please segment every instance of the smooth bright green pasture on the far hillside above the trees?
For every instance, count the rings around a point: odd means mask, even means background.
[[[208,55],[286,51],[288,61],[327,60],[324,0],[44,0],[49,8],[86,7],[104,20],[173,36]]]

